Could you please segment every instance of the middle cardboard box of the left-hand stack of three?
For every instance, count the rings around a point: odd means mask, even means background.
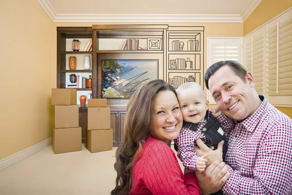
[[[55,128],[79,127],[79,106],[53,105],[52,121]]]

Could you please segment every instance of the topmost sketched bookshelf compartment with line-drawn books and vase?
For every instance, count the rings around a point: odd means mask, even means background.
[[[201,33],[181,36],[179,33],[169,33],[169,51],[200,51]]]

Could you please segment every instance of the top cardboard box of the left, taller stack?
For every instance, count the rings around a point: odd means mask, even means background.
[[[74,104],[77,104],[76,89],[52,88],[52,105],[74,105]]]

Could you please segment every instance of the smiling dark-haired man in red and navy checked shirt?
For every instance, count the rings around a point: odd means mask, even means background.
[[[225,115],[228,180],[210,166],[197,174],[203,194],[222,187],[226,195],[292,195],[292,120],[257,95],[255,78],[236,61],[220,61],[208,68],[205,84]],[[227,117],[229,117],[229,119]],[[199,155],[220,156],[201,140]],[[213,174],[213,172],[215,172]],[[221,181],[220,181],[221,180]]]

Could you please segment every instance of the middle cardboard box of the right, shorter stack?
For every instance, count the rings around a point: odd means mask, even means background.
[[[110,107],[88,108],[88,130],[110,129]]]

